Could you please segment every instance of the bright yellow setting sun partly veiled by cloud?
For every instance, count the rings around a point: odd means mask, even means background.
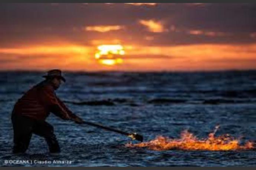
[[[116,65],[123,63],[122,56],[125,54],[122,45],[99,45],[95,53],[95,59],[103,65]]]

